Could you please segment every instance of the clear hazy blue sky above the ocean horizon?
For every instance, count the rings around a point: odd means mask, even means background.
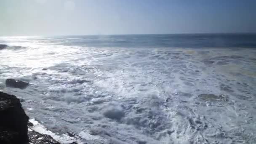
[[[256,32],[256,0],[0,0],[0,36]]]

